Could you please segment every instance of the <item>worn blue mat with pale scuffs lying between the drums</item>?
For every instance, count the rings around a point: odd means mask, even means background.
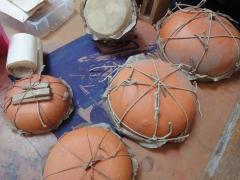
[[[156,45],[149,45],[147,52],[155,52]],[[130,53],[131,54],[131,53]],[[123,64],[130,55],[103,55],[95,46],[90,35],[85,35],[45,56],[45,74],[61,77],[67,81],[74,94],[75,111],[54,134],[57,137],[71,131],[82,123],[110,124],[109,117],[102,108],[101,97],[107,82],[101,82],[113,69],[105,68],[90,73],[90,69]]]

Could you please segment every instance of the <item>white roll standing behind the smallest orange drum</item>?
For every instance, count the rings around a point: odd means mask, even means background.
[[[7,71],[16,78],[40,74],[43,66],[43,49],[39,38],[19,33],[12,36],[7,57]]]

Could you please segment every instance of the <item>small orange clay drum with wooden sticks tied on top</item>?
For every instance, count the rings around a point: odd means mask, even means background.
[[[57,128],[72,110],[71,88],[52,76],[33,75],[16,81],[4,98],[6,119],[26,134]]]

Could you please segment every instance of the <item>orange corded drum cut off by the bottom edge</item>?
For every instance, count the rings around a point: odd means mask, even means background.
[[[127,148],[111,130],[84,127],[64,135],[51,150],[44,180],[132,180]]]

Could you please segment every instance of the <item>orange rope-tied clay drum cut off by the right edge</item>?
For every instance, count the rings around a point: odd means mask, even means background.
[[[162,59],[182,64],[191,79],[218,81],[239,69],[240,34],[231,18],[208,9],[180,9],[159,22]]]

